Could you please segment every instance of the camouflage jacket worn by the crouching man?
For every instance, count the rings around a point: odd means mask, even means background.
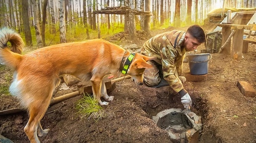
[[[156,57],[155,62],[162,65],[164,79],[177,93],[184,88],[179,75],[182,74],[186,53],[182,46],[185,34],[178,30],[159,34],[147,40],[141,49],[142,54]]]

